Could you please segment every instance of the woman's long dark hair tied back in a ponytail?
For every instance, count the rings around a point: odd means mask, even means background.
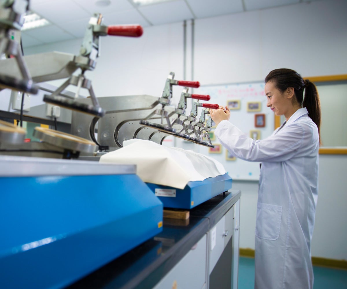
[[[265,83],[269,81],[271,81],[282,93],[285,92],[288,87],[294,88],[297,102],[307,109],[308,116],[318,127],[318,133],[320,135],[321,104],[316,86],[310,82],[310,80],[304,80],[300,74],[288,68],[280,68],[270,71],[270,73],[265,77]],[[304,89],[305,97],[303,95]]]

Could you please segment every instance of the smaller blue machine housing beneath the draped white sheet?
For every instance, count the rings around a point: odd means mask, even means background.
[[[225,173],[203,181],[189,181],[184,189],[146,183],[163,203],[164,207],[177,209],[192,209],[195,206],[231,189],[232,179]],[[167,190],[168,196],[161,192]]]

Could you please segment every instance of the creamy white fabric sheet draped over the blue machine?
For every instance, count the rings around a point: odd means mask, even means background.
[[[137,175],[144,182],[179,189],[188,181],[202,181],[226,173],[220,162],[206,155],[143,139],[123,142],[122,148],[102,155],[100,162],[136,164]]]

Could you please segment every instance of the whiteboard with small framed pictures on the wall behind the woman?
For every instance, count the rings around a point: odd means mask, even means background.
[[[227,85],[208,85],[201,86],[194,90],[195,94],[208,94],[211,96],[209,103],[218,103],[227,105],[228,102],[238,103],[239,109],[231,109],[230,122],[237,126],[247,135],[251,130],[260,132],[260,138],[264,139],[270,136],[274,130],[274,113],[266,107],[266,97],[264,93],[264,82],[247,84],[227,84]],[[247,111],[248,103],[260,103],[259,111]],[[265,114],[265,126],[255,126],[255,114]],[[212,132],[215,128],[212,129]],[[214,136],[213,145],[220,145],[217,137]],[[226,148],[221,147],[219,152],[211,152],[208,147],[201,145],[189,145],[183,141],[183,147],[196,152],[213,157],[222,163],[232,179],[236,180],[259,180],[259,162],[248,162],[228,157]],[[192,144],[192,143],[191,143]],[[230,156],[230,154],[229,154]]]

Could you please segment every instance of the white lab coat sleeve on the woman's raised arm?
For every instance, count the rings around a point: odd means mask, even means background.
[[[302,146],[304,130],[301,125],[291,123],[276,135],[255,141],[229,121],[223,120],[215,129],[215,135],[220,143],[239,159],[281,162],[292,158]]]

